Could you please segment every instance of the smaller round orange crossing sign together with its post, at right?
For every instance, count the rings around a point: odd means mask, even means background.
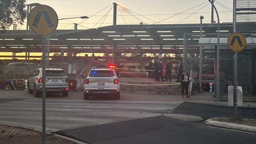
[[[235,118],[237,119],[237,52],[245,49],[246,39],[242,33],[234,32],[228,37],[228,47],[235,52],[235,87],[234,87],[234,105]]]

